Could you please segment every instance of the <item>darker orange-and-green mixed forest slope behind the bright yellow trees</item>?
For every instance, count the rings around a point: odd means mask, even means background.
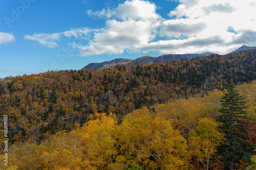
[[[255,61],[256,50],[247,50],[153,65],[7,77],[0,83],[0,112],[9,115],[12,143],[39,142],[87,123],[96,113],[112,112],[121,120],[143,106],[255,80]]]

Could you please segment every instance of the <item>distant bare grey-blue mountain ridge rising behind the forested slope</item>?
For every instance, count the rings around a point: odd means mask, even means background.
[[[236,53],[243,50],[254,50],[255,47],[252,46],[246,46],[243,45],[237,50],[230,52],[228,54]],[[124,59],[124,58],[117,58],[111,61],[104,61],[101,63],[90,63],[87,66],[83,67],[82,69],[102,69],[102,68],[110,68],[117,64],[124,64],[124,65],[130,65],[130,64],[154,64],[154,63],[160,63],[160,62],[170,62],[170,61],[179,61],[181,59],[193,59],[193,58],[199,58],[199,57],[206,57],[210,55],[216,55],[216,53],[203,53],[203,54],[165,54],[159,57],[151,57],[151,56],[143,56],[139,57],[135,60],[132,59]]]

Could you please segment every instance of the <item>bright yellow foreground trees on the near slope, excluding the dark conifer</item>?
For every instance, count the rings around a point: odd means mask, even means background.
[[[240,122],[255,130],[256,82],[236,89],[248,106],[248,119]],[[216,119],[222,96],[223,91],[213,90],[203,98],[142,107],[121,123],[115,114],[96,113],[82,127],[75,125],[73,131],[58,132],[40,144],[15,142],[9,150],[10,169],[228,169],[219,150],[225,136]],[[251,135],[243,140],[255,144],[255,131],[247,132]],[[250,162],[240,154],[234,162],[234,169],[255,167],[256,155]]]

